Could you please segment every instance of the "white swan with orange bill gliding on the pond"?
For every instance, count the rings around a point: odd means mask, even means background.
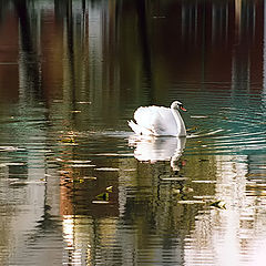
[[[130,127],[140,135],[185,136],[186,129],[178,110],[186,111],[183,104],[174,101],[171,108],[139,108],[134,120],[129,121]]]

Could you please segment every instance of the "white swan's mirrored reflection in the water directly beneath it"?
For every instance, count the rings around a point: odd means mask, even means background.
[[[155,163],[170,161],[173,171],[178,171],[178,158],[185,147],[186,137],[156,137],[136,136],[129,139],[129,145],[133,146],[134,157],[141,162]]]

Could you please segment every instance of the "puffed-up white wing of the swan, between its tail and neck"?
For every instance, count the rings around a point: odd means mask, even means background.
[[[134,113],[134,119],[136,123],[145,129],[145,131],[147,130],[150,134],[176,134],[176,122],[171,109],[160,106],[139,108]]]

